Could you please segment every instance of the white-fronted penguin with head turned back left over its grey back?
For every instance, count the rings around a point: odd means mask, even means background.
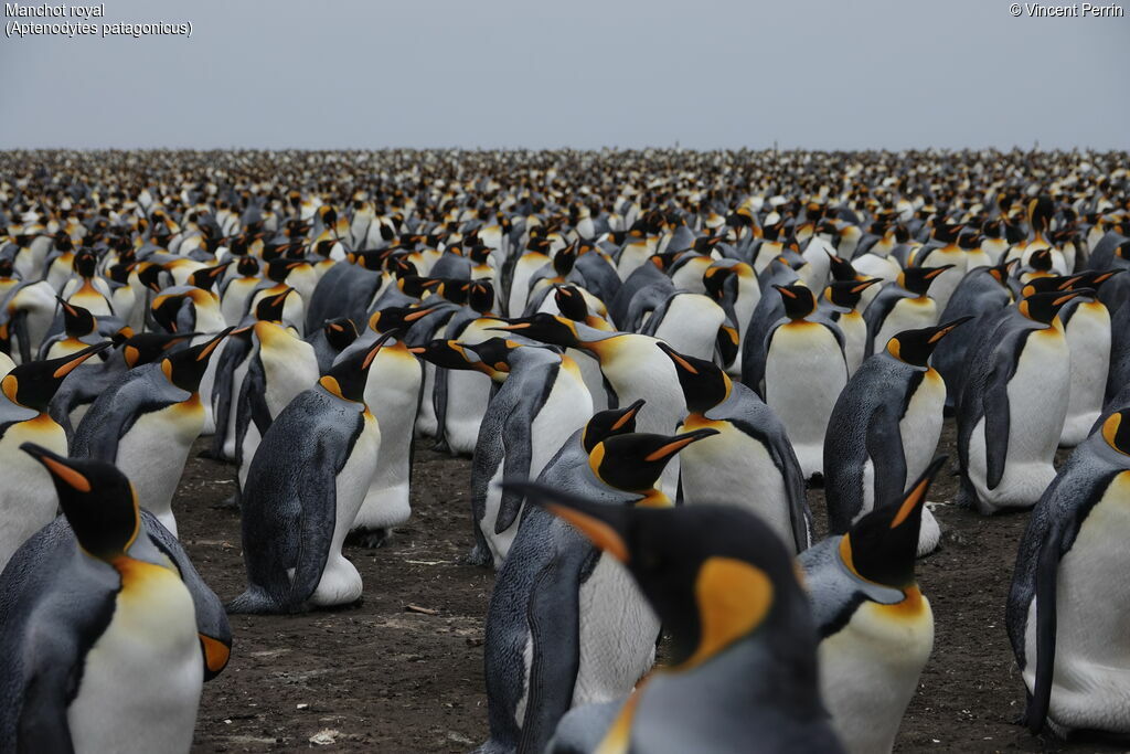
[[[483,416],[471,465],[475,549],[469,561],[497,569],[518,532],[523,501],[503,494],[503,478],[536,477],[592,416],[592,398],[568,356],[541,346],[490,338],[473,346],[433,341],[420,349],[446,369],[477,369],[502,387]]]

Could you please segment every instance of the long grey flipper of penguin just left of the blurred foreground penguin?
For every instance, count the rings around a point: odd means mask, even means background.
[[[581,570],[591,551],[580,537],[534,577],[527,605],[530,643],[529,699],[519,749],[541,752],[573,704],[581,668]]]

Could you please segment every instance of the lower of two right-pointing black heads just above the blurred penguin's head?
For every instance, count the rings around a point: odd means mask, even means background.
[[[654,496],[655,483],[675,454],[718,434],[718,430],[695,430],[679,435],[635,432],[607,437],[589,453],[589,466],[609,487]],[[666,499],[662,499],[666,503]]]

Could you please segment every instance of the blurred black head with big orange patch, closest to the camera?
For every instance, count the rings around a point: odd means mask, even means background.
[[[670,632],[669,668],[687,670],[747,636],[815,684],[816,633],[792,557],[757,515],[734,506],[594,503],[545,485],[504,482],[624,563]],[[798,648],[798,649],[793,649]]]

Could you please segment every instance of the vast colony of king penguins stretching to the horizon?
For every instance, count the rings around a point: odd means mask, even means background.
[[[419,442],[497,570],[477,751],[889,751],[949,468],[1029,511],[1023,722],[1130,736],[1128,164],[0,155],[0,751],[188,751],[227,614],[360,599]],[[200,437],[226,605],[169,505]]]

